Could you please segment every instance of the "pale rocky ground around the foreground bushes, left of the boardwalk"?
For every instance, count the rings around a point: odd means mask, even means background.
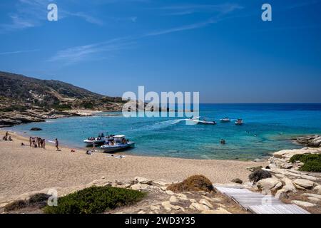
[[[165,180],[148,180],[144,177],[134,177],[133,180],[119,181],[119,180],[106,180],[105,177],[94,180],[87,185],[68,188],[54,188],[58,192],[58,197],[68,195],[72,192],[82,190],[85,187],[92,186],[109,186],[121,187],[131,190],[138,190],[147,192],[147,199],[143,199],[135,205],[128,207],[121,207],[108,213],[133,213],[133,214],[159,214],[159,213],[201,213],[201,214],[230,214],[233,213],[246,213],[242,208],[238,207],[235,202],[225,199],[223,195],[218,195],[214,192],[180,192],[175,193],[167,190],[169,185],[173,182]],[[0,200],[0,213],[1,207],[13,202],[17,199],[29,199],[31,195],[36,193],[48,193],[50,189],[45,189],[36,192],[28,192],[24,195],[7,199],[6,201]],[[231,212],[229,211],[231,209]],[[25,211],[24,211],[25,212]],[[39,211],[38,211],[39,212]]]

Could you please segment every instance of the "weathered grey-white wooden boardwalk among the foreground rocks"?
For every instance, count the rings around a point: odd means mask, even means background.
[[[255,214],[310,214],[295,204],[285,204],[271,195],[262,195],[245,188],[228,185],[214,185],[214,187]]]

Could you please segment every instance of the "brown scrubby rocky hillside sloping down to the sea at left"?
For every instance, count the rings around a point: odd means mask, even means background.
[[[82,115],[79,110],[120,111],[123,103],[61,81],[0,71],[0,127]]]

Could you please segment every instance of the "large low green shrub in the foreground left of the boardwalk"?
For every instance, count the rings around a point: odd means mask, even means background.
[[[140,201],[144,192],[118,187],[89,187],[58,198],[58,205],[46,206],[47,214],[94,214]]]

